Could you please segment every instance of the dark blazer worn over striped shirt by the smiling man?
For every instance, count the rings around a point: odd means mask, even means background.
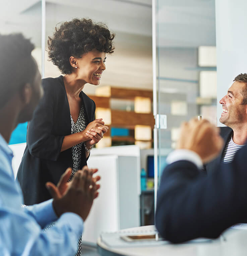
[[[206,171],[207,173],[216,170],[216,166],[221,162],[226,144],[232,135],[232,129],[228,126],[220,127],[220,135],[225,142],[224,147],[217,158],[203,165],[203,171]]]

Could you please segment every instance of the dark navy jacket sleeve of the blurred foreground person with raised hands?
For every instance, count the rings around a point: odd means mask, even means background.
[[[156,227],[173,243],[217,238],[247,216],[247,145],[231,163],[204,175],[189,161],[164,169],[157,197]]]

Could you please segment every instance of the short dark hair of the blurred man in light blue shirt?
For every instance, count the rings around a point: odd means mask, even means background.
[[[32,84],[36,65],[34,45],[22,34],[0,34],[0,109],[27,83]]]

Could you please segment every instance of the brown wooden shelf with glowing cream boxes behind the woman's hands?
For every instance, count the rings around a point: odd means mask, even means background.
[[[155,118],[151,109],[153,97],[151,90],[105,86],[96,89],[96,96],[88,96],[96,104],[96,118],[103,118],[105,125],[109,126],[108,133],[97,144],[97,147],[108,147],[113,143],[122,143],[123,145],[133,143],[139,145],[140,148],[152,146],[152,129],[155,125]],[[113,99],[133,100],[134,111],[111,108]],[[116,136],[111,137],[111,127],[134,130],[134,133],[115,134]]]

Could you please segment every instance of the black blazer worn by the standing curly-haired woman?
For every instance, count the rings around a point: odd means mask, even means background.
[[[45,184],[57,184],[68,167],[73,167],[72,149],[60,152],[65,135],[71,134],[70,109],[62,75],[42,79],[44,96],[27,125],[26,148],[17,172],[24,203],[32,205],[51,198]],[[80,93],[86,125],[95,119],[95,103]],[[86,165],[84,147],[80,167]]]

